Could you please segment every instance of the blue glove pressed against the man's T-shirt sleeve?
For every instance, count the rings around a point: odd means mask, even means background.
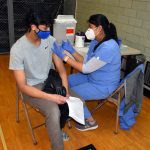
[[[56,42],[54,42],[53,44],[52,51],[62,60],[66,56],[66,54],[64,54],[64,49],[61,46],[59,46]]]

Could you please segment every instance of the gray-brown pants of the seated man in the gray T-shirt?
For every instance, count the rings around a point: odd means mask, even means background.
[[[37,89],[43,89],[44,84],[38,84],[34,86]],[[74,97],[79,97],[76,93],[69,90],[69,94]],[[64,143],[62,138],[62,132],[60,128],[60,111],[58,104],[48,101],[45,99],[33,98],[23,94],[23,99],[25,103],[30,104],[34,108],[37,108],[44,116],[46,122],[46,128],[48,130],[48,135],[51,141],[51,146],[53,150],[63,150]],[[82,100],[82,99],[81,99]]]

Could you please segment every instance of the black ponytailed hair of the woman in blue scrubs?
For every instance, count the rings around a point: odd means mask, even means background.
[[[103,14],[95,14],[90,16],[89,23],[94,24],[96,27],[102,26],[104,33],[106,35],[105,41],[109,39],[114,39],[118,43],[118,36],[116,27],[113,23],[110,23],[106,16]]]

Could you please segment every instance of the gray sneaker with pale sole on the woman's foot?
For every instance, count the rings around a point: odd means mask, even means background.
[[[85,125],[78,124],[78,123],[76,124],[76,129],[80,131],[94,130],[96,128],[98,128],[98,124],[96,121],[94,122],[85,121]]]

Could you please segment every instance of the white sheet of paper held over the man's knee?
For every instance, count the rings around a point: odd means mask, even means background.
[[[69,116],[77,122],[85,125],[83,102],[76,97],[69,97],[67,99],[69,107]]]

